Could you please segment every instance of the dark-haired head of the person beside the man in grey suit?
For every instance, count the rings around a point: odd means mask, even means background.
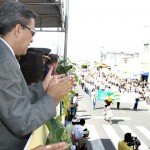
[[[27,54],[19,58],[21,72],[28,85],[43,80],[43,53],[36,48],[28,48]]]

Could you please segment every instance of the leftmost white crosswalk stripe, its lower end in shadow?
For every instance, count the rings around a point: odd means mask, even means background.
[[[86,127],[90,131],[89,141],[91,142],[92,149],[99,148],[100,150],[105,150],[95,126],[88,124],[88,125],[86,125]],[[95,141],[96,141],[96,143],[95,143]]]

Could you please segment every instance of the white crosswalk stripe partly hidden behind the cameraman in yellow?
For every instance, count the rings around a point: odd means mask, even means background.
[[[123,130],[124,133],[129,132],[129,133],[132,134],[132,136],[136,137],[136,134],[129,128],[129,126],[127,126],[127,125],[119,125],[119,126]],[[147,150],[148,147],[142,142],[142,140],[139,137],[138,137],[138,139],[141,142],[141,145],[139,146],[139,149],[141,149],[141,150]]]

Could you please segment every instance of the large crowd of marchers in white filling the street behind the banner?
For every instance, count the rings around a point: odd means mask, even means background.
[[[93,109],[96,105],[98,90],[120,94],[132,92],[135,97],[133,110],[137,110],[140,100],[144,100],[148,105],[150,104],[150,84],[147,82],[119,78],[110,72],[102,72],[100,75],[98,70],[83,69],[78,72],[78,75],[80,76],[82,89],[91,97]],[[120,102],[121,99],[116,102],[117,110],[120,109]]]

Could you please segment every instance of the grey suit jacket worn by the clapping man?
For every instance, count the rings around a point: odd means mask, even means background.
[[[0,39],[0,150],[23,149],[30,134],[56,115],[41,83],[28,87],[15,57]]]

